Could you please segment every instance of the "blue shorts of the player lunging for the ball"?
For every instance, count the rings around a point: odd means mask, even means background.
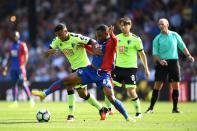
[[[113,88],[110,73],[96,70],[92,66],[77,70],[77,75],[81,78],[82,84],[96,83],[98,88]]]

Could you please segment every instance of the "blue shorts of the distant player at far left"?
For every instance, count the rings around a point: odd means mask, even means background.
[[[11,69],[11,79],[12,82],[16,83],[17,81],[23,82],[27,80],[26,70],[22,69]]]

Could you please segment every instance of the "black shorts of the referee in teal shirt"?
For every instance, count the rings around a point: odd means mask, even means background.
[[[162,66],[159,63],[155,67],[155,81],[169,82],[180,81],[180,64],[178,60],[166,60],[168,65]]]

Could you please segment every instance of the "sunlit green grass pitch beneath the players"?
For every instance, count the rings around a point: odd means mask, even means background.
[[[36,103],[35,108],[29,108],[28,102],[19,102],[19,107],[10,109],[10,102],[0,102],[0,131],[197,131],[197,103],[180,103],[181,114],[172,114],[172,103],[158,102],[154,114],[144,114],[137,122],[126,122],[115,111],[105,121],[100,121],[96,108],[87,103],[76,104],[76,120],[67,122],[67,104],[64,102]],[[142,102],[143,112],[149,103]],[[130,115],[134,115],[131,103],[124,102]],[[38,123],[36,113],[46,108],[51,112],[48,123]]]

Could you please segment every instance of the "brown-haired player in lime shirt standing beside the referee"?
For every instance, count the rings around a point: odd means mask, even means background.
[[[146,77],[149,78],[150,72],[146,55],[140,37],[130,31],[132,27],[131,19],[129,17],[121,18],[118,24],[122,33],[117,35],[117,56],[112,77],[115,86],[121,87],[122,83],[125,84],[125,88],[136,110],[134,118],[142,118],[140,100],[136,93],[137,55],[140,56]]]

